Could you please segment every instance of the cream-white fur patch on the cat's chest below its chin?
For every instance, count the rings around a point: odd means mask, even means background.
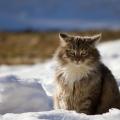
[[[92,69],[93,68],[85,64],[81,64],[78,66],[70,63],[62,67],[61,72],[63,73],[64,82],[72,86],[75,81],[79,81],[83,77],[87,77]]]

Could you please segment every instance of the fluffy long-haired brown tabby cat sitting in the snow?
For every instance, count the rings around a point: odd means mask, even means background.
[[[111,71],[101,62],[96,44],[101,34],[74,36],[60,33],[54,58],[54,109],[75,110],[88,115],[110,108],[120,109],[120,94]]]

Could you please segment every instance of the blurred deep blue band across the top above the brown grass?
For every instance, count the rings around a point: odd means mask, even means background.
[[[120,28],[119,0],[0,0],[0,30]]]

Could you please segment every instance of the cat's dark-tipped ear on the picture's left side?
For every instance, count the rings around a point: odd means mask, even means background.
[[[60,38],[61,44],[65,45],[67,42],[70,41],[72,37],[71,35],[68,35],[67,33],[59,33],[59,38]]]

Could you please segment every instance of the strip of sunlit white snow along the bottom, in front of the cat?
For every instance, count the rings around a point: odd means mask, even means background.
[[[86,115],[67,110],[22,114],[7,113],[0,116],[0,120],[120,120],[120,110],[110,109],[108,113],[103,115]]]

